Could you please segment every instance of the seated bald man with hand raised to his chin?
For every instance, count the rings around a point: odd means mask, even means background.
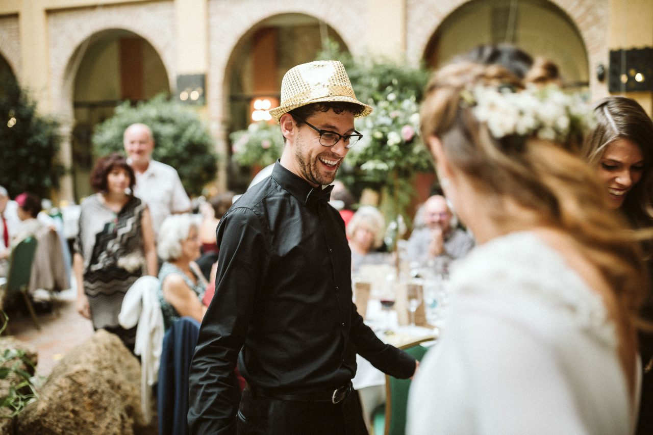
[[[474,246],[470,234],[452,225],[454,216],[442,195],[429,197],[418,212],[423,227],[413,230],[406,248],[408,261],[419,266],[447,268]]]

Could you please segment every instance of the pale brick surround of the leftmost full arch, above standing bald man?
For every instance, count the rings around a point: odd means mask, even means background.
[[[144,25],[146,24],[146,25]],[[48,16],[52,111],[72,121],[72,91],[86,44],[112,29],[124,29],[145,39],[157,52],[174,89],[176,67],[172,3],[118,5],[53,12]]]

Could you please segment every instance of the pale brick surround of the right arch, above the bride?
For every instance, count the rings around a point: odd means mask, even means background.
[[[430,37],[454,10],[473,0],[407,0],[406,57],[417,63]],[[558,7],[577,27],[586,48],[590,66],[590,93],[593,98],[607,94],[607,84],[593,71],[599,63],[607,65],[608,0],[547,0]]]

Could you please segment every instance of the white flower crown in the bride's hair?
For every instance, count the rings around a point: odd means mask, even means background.
[[[523,90],[476,86],[460,96],[497,139],[537,137],[565,144],[579,140],[594,125],[594,112],[581,95],[564,93],[557,86]]]

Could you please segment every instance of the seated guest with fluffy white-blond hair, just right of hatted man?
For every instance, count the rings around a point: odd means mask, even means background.
[[[376,207],[362,206],[347,225],[351,249],[351,271],[356,273],[362,265],[390,262],[390,254],[379,252],[383,248],[385,219]]]

